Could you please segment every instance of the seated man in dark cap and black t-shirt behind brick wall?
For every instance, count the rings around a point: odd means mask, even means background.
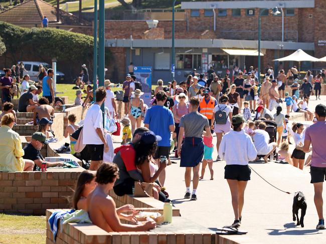
[[[27,144],[23,150],[25,155],[24,159],[30,159],[34,161],[34,171],[37,169],[37,166],[41,168],[43,162],[47,164],[47,167],[63,166],[63,162],[46,162],[40,152],[44,144],[48,144],[46,141],[46,136],[42,132],[35,132],[32,136],[31,142]]]

